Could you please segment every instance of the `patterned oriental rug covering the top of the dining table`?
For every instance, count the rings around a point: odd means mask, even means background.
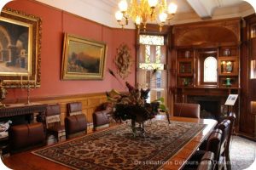
[[[204,127],[154,121],[146,137],[133,137],[128,123],[32,153],[73,169],[158,169]]]

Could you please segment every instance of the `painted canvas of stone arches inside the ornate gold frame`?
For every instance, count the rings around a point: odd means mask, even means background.
[[[0,72],[25,73],[28,71],[28,30],[27,26],[14,25],[0,20]]]

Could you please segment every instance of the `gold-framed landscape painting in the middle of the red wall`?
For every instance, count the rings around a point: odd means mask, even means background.
[[[66,33],[63,44],[61,79],[102,79],[106,54],[106,43]]]

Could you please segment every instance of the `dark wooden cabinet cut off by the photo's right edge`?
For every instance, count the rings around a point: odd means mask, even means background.
[[[243,54],[245,59],[243,85],[245,94],[243,97],[244,115],[241,116],[242,132],[253,134],[256,138],[256,16],[252,14],[245,18],[246,26],[244,27]]]

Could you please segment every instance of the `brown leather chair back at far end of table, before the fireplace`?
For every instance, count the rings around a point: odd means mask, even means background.
[[[200,105],[187,104],[187,103],[175,103],[173,116],[200,118]]]

